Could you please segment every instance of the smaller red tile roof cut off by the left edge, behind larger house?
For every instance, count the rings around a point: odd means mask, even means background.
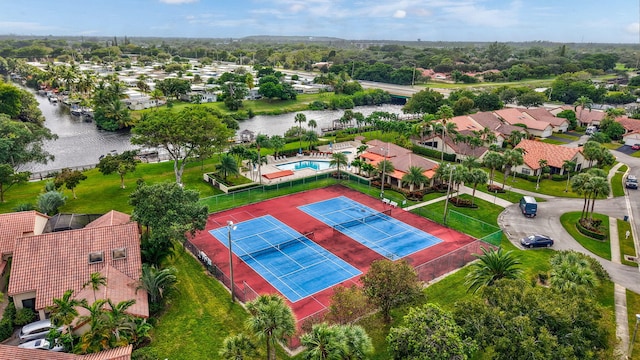
[[[43,225],[49,218],[37,211],[0,214],[0,255],[12,254],[17,238],[41,233],[42,229],[36,228],[38,217],[43,219]]]

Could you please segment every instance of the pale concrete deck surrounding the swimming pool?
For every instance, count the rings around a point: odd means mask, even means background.
[[[350,142],[344,142],[344,143],[337,143],[334,146],[332,146],[331,149],[329,149],[328,145],[324,145],[320,147],[320,150],[318,152],[315,152],[312,155],[300,155],[300,156],[293,156],[293,157],[285,157],[285,158],[281,158],[281,159],[276,159],[271,155],[267,156],[267,164],[262,165],[261,168],[261,173],[262,173],[262,183],[263,184],[275,184],[278,182],[282,182],[282,181],[289,181],[289,180],[293,180],[293,179],[298,179],[298,178],[304,178],[304,177],[309,177],[309,176],[313,176],[316,174],[320,174],[320,173],[325,173],[325,172],[330,172],[330,171],[335,171],[335,168],[329,168],[326,170],[314,170],[314,169],[301,169],[301,170],[296,170],[293,171],[293,173],[291,175],[286,175],[286,176],[277,176],[277,177],[272,177],[270,174],[275,174],[275,173],[282,173],[281,169],[278,169],[276,167],[276,165],[281,165],[281,164],[286,164],[286,163],[290,163],[290,162],[297,162],[297,161],[309,161],[309,160],[317,160],[317,161],[331,161],[331,153],[332,152],[342,152],[345,153],[345,155],[347,155],[347,163],[350,164],[354,159],[355,159],[355,154],[358,151],[358,146],[362,145],[359,142],[355,142],[355,141],[350,141]],[[348,153],[351,152],[351,153]],[[354,169],[351,169],[351,166],[349,166],[347,168],[348,171],[354,171]],[[242,175],[246,176],[249,179],[253,179],[254,181],[259,181],[258,179],[258,174],[257,171],[253,171],[253,173],[251,171],[247,171],[247,172],[243,172]]]

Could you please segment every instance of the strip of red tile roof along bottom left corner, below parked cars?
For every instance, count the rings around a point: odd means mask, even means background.
[[[0,359],[11,360],[131,360],[133,346],[104,350],[95,354],[76,355],[62,352],[22,349],[0,344]]]

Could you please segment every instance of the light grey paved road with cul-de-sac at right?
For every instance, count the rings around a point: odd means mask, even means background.
[[[628,155],[613,152],[619,161],[629,165],[630,172],[640,175],[640,159]],[[638,213],[638,203],[640,202],[640,191],[629,191],[628,205],[624,198],[613,198],[607,200],[597,200],[595,211],[618,219],[629,215],[631,219],[640,219]],[[597,258],[602,266],[609,272],[613,282],[624,286],[640,294],[640,272],[638,268],[615,264],[609,260],[597,257],[590,251],[582,247],[560,224],[560,216],[569,211],[579,211],[582,209],[582,199],[555,198],[538,203],[538,216],[526,218],[522,216],[517,204],[510,205],[498,218],[498,224],[503,229],[509,240],[516,246],[520,246],[520,239],[534,233],[542,233],[551,236],[556,242],[554,248],[557,250],[576,250]],[[631,211],[631,213],[630,213]],[[637,238],[640,236],[638,222],[633,222],[634,232]],[[535,250],[534,250],[535,251]]]

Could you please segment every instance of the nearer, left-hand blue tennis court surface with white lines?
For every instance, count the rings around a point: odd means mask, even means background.
[[[240,222],[231,232],[233,253],[291,302],[362,272],[271,215]],[[210,230],[228,247],[226,226]]]

